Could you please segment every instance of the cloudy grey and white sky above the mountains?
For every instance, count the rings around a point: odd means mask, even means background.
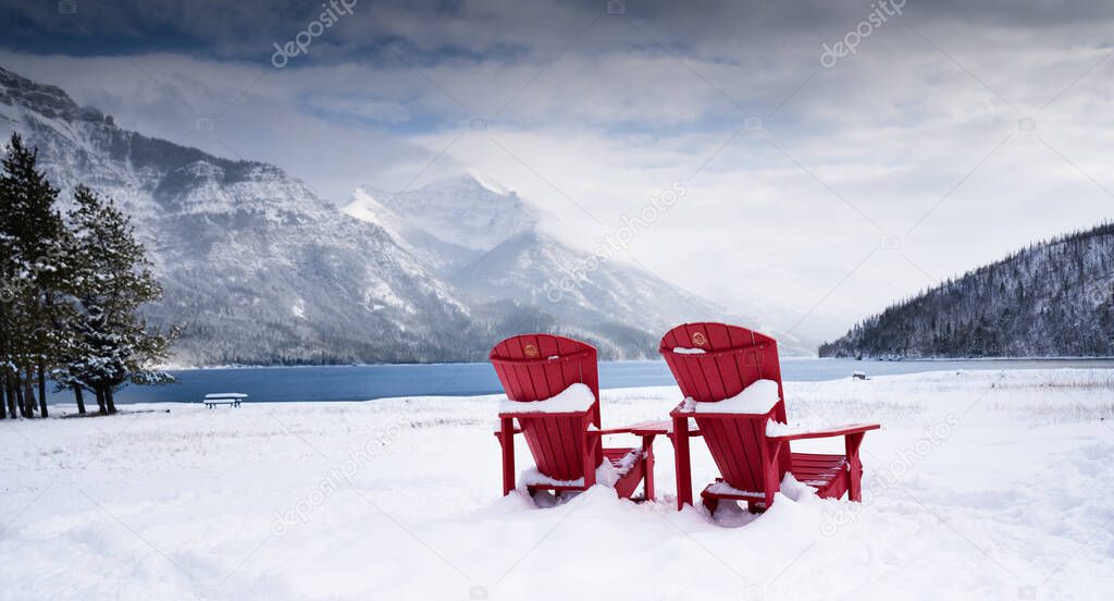
[[[0,65],[338,204],[472,169],[590,249],[683,188],[617,259],[805,335],[1114,216],[1108,1],[33,4]]]

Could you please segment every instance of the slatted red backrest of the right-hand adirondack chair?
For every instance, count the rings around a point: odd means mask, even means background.
[[[675,352],[674,349],[704,352]],[[681,392],[697,404],[731,398],[758,380],[776,381],[779,400],[773,417],[782,423],[786,420],[778,341],[773,338],[726,323],[684,323],[662,337],[658,352],[670,366]],[[742,491],[762,492],[765,486],[766,418],[694,417],[727,484]]]

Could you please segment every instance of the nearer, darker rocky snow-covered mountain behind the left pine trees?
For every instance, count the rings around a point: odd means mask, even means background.
[[[166,294],[156,323],[188,363],[479,357],[467,306],[381,227],[272,165],[228,161],[117,127],[65,91],[0,69],[0,124],[39,148],[62,190],[120,203]]]

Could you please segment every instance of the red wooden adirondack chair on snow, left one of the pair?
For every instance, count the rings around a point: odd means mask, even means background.
[[[499,342],[489,356],[507,398],[521,410],[500,411],[502,494],[515,489],[515,435],[521,434],[538,472],[553,482],[528,483],[527,489],[585,491],[596,484],[596,468],[604,459],[618,472],[615,491],[631,498],[645,479],[645,497],[654,498],[653,436],[641,447],[604,448],[602,437],[627,434],[629,428],[600,429],[599,376],[596,349],[584,342],[550,335],[515,336]],[[536,413],[531,403],[551,398],[575,384],[592,390],[584,410]],[[518,421],[518,427],[514,426]]]

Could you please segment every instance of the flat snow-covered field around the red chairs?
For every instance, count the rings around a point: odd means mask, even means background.
[[[1114,371],[785,388],[791,420],[883,425],[863,445],[866,503],[786,486],[761,516],[677,513],[663,438],[656,503],[597,487],[537,508],[500,496],[498,397],[3,421],[0,598],[1114,594]],[[606,390],[604,425],[663,418],[677,395]],[[810,443],[794,449],[840,448]],[[716,472],[694,449],[698,491]]]

